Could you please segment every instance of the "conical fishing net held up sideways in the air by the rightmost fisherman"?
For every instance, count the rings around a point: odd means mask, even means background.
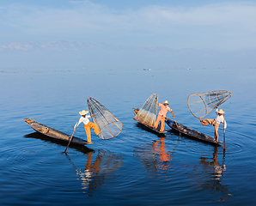
[[[225,90],[192,93],[187,98],[187,106],[196,118],[204,118],[216,106],[229,100],[231,93]]]

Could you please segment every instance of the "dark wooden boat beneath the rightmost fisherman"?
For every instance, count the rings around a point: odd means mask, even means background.
[[[172,129],[174,129],[176,131],[179,131],[181,134],[183,134],[185,136],[191,137],[193,139],[198,139],[199,141],[202,141],[202,142],[218,144],[218,142],[216,142],[216,140],[214,138],[204,135],[203,133],[201,133],[197,130],[192,130],[191,128],[188,128],[182,124],[177,123],[178,124],[178,128],[177,128],[176,123],[169,118],[166,118],[165,122],[166,122],[166,124],[168,124],[169,127],[171,127]]]

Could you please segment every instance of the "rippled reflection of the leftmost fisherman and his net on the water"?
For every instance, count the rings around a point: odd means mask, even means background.
[[[123,162],[120,155],[99,149],[95,158],[95,153],[90,152],[87,154],[87,162],[82,170],[77,168],[74,162],[71,161],[70,155],[66,155],[76,169],[76,176],[82,180],[82,189],[88,189],[88,191],[94,191],[101,186],[104,183],[104,179],[121,167]]]

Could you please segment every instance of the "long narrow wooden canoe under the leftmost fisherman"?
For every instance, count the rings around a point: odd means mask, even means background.
[[[71,136],[68,134],[65,134],[62,131],[52,129],[51,127],[48,127],[45,124],[40,124],[31,118],[22,118],[22,120],[24,120],[34,130],[36,130],[37,132],[40,132],[41,134],[43,134],[45,136],[50,136],[54,139],[63,140],[65,142],[70,142]],[[73,136],[72,141],[70,143],[84,145],[84,144],[87,144],[88,142],[81,138]]]

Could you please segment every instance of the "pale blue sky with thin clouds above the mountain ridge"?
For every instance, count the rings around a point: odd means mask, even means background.
[[[256,48],[256,2],[1,0],[0,43],[66,40],[171,49]]]

